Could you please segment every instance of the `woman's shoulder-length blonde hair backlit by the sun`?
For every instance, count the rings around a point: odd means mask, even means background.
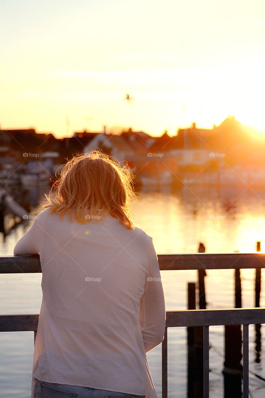
[[[138,197],[133,190],[133,173],[127,165],[121,166],[114,158],[99,151],[74,156],[62,168],[51,188],[48,203],[43,208],[51,209],[62,218],[72,215],[78,222],[105,219],[108,213],[133,229],[129,205]]]

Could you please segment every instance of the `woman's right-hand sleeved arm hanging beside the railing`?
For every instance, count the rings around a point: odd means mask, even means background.
[[[140,324],[145,352],[160,344],[166,327],[164,291],[153,241],[148,253],[148,274],[140,301]]]

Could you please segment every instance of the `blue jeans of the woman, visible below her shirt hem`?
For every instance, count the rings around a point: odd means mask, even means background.
[[[35,387],[35,398],[145,398],[145,395],[126,394],[99,390],[97,388],[71,386],[68,384],[48,383],[38,380]]]

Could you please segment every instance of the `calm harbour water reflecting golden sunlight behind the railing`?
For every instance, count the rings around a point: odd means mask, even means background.
[[[43,196],[43,192],[32,195]],[[36,207],[31,212],[41,211]],[[265,247],[265,191],[248,189],[215,189],[189,187],[183,191],[141,192],[141,200],[132,209],[134,223],[152,236],[158,254],[196,253],[203,242],[208,253],[254,252],[257,240],[261,250]],[[9,220],[10,226],[12,219]],[[6,240],[2,240],[1,256],[13,255],[16,242],[29,229],[19,225]],[[262,250],[263,251],[263,250]],[[232,308],[234,306],[233,270],[207,271],[205,278],[208,308]],[[167,310],[187,308],[187,282],[196,281],[195,271],[162,271],[162,281]],[[242,271],[242,305],[254,303],[253,270]],[[37,281],[23,281],[24,276],[34,276]],[[261,306],[265,297],[261,290]],[[41,305],[41,275],[0,275],[0,313],[36,314]],[[254,328],[249,328],[250,391],[252,397],[265,395],[265,382],[253,373],[265,378],[265,355],[261,351],[261,363],[255,363]],[[264,334],[264,328],[261,329]],[[262,346],[265,339],[262,337]],[[210,397],[222,396],[223,327],[210,328]],[[0,334],[0,396],[30,396],[33,360],[33,332]],[[185,397],[186,329],[168,330],[169,396]],[[147,354],[158,396],[161,396],[161,345]]]

